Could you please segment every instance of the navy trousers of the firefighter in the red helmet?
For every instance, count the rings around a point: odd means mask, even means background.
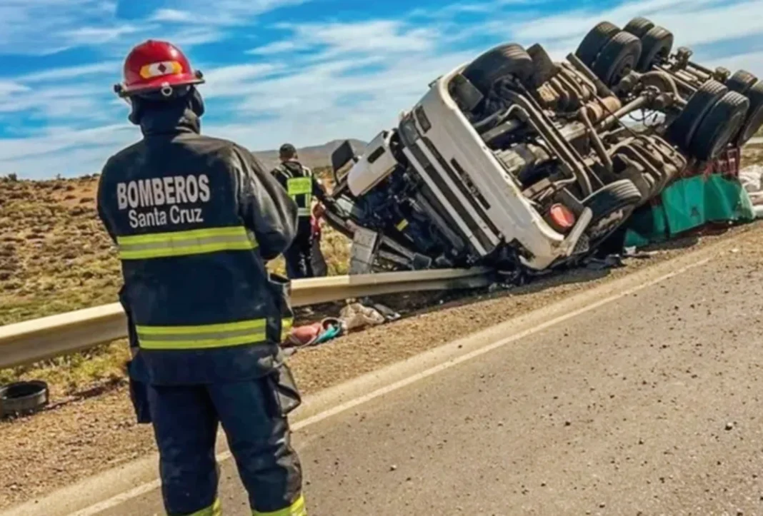
[[[218,423],[256,516],[306,516],[301,464],[288,421],[266,380],[199,386],[148,386],[168,514],[219,516]]]

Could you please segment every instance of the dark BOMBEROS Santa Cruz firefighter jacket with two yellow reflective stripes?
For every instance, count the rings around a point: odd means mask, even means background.
[[[140,347],[130,377],[172,385],[271,373],[290,309],[288,284],[264,261],[291,245],[297,206],[249,151],[201,136],[187,108],[140,125],[143,140],[112,156],[98,185]]]

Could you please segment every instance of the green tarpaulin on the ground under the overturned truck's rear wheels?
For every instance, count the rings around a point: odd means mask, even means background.
[[[749,194],[736,178],[695,175],[674,182],[658,202],[642,207],[627,223],[626,247],[664,242],[710,222],[755,220]]]

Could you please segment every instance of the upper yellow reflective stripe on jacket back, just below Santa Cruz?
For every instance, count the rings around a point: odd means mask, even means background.
[[[243,226],[118,236],[117,244],[119,258],[122,260],[201,255],[209,252],[257,248],[254,236]]]

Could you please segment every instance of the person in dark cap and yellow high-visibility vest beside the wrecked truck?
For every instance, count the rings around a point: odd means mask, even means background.
[[[317,212],[320,213],[323,205],[328,202],[326,192],[323,185],[315,178],[313,171],[298,161],[297,149],[291,143],[284,143],[281,149],[278,149],[278,158],[281,163],[272,171],[272,175],[278,179],[289,196],[295,200],[299,213],[297,236],[284,253],[286,274],[292,280],[314,277],[314,234],[311,221],[314,215],[311,204],[313,197],[317,197],[320,204],[316,208]]]

